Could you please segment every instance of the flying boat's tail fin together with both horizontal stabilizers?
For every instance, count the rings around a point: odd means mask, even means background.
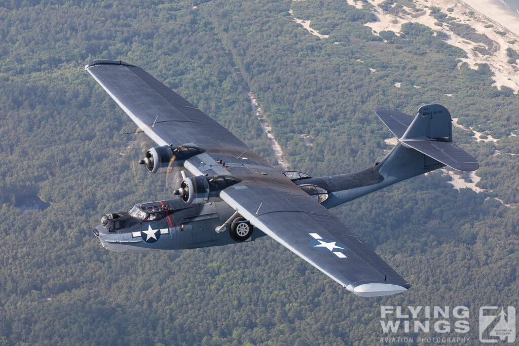
[[[377,109],[377,116],[404,146],[458,171],[475,171],[477,160],[452,141],[452,118],[442,105],[421,106],[416,116]]]

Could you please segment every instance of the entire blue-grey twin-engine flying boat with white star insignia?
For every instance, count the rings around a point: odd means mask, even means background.
[[[409,283],[328,209],[444,165],[479,168],[453,143],[448,110],[430,104],[414,117],[376,110],[399,143],[372,167],[320,178],[280,173],[141,68],[94,61],[85,70],[157,143],[140,163],[152,173],[183,176],[175,198],[101,218],[93,231],[112,251],[206,247],[267,235],[356,295],[396,294]]]

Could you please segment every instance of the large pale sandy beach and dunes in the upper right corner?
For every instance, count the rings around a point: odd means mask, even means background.
[[[407,13],[392,15],[380,8],[379,5],[384,0],[367,0],[367,2],[373,5],[372,11],[378,18],[375,22],[365,24],[371,27],[374,35],[385,30],[400,35],[402,24],[407,22],[429,26],[434,31],[445,33],[448,44],[459,47],[467,53],[467,58],[459,59],[460,64],[466,62],[474,69],[479,68],[477,64],[488,64],[495,74],[493,79],[497,88],[506,86],[513,89],[514,93],[519,91],[519,64],[508,63],[507,55],[507,48],[519,51],[519,16],[508,11],[504,5],[497,4],[494,0],[434,0],[434,2],[415,0],[414,5],[423,13],[418,17],[415,15],[415,18],[412,16],[412,13],[417,13],[414,9],[404,6]],[[469,3],[470,6],[467,5]],[[348,0],[348,4],[358,7],[361,2]],[[456,18],[456,22],[468,24],[477,33],[486,35],[494,41],[494,47],[462,38],[452,32],[448,25],[438,25],[436,19],[430,16],[431,6],[438,7],[443,13]],[[482,49],[490,50],[490,53],[482,54]]]

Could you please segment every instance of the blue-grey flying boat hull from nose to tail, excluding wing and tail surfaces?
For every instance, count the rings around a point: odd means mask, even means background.
[[[359,172],[319,178],[301,172],[285,172],[285,175],[330,209],[443,166],[438,161],[428,162],[425,158],[424,154],[399,144],[380,162]],[[402,167],[406,169],[402,170]],[[106,225],[102,222],[93,231],[107,250],[116,252],[218,246],[265,236],[249,223],[243,225],[238,219],[240,216],[234,213],[221,199],[191,205],[177,197],[136,204],[130,212],[107,214],[114,218],[105,219]],[[151,219],[152,216],[155,219]],[[221,228],[216,230],[217,227]]]

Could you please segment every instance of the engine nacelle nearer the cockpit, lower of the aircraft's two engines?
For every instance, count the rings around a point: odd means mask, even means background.
[[[202,204],[220,198],[220,191],[239,183],[240,180],[230,176],[193,176],[185,178],[174,195],[180,195],[187,204]]]

